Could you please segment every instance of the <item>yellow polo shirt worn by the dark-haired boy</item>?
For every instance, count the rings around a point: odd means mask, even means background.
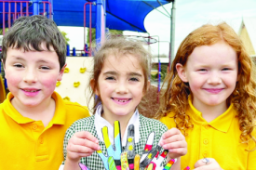
[[[41,121],[23,117],[11,105],[8,94],[0,104],[0,169],[58,170],[63,161],[63,139],[74,121],[89,116],[88,108],[63,101],[54,92],[56,111],[45,127]]]

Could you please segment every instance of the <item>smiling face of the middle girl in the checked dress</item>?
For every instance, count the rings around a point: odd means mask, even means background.
[[[102,117],[132,116],[143,97],[144,74],[132,56],[110,55],[104,60],[96,94],[103,105]]]

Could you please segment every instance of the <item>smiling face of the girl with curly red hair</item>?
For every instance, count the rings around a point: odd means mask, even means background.
[[[236,87],[236,51],[224,42],[195,47],[185,67],[177,64],[176,69],[182,81],[189,83],[195,108],[226,105]]]

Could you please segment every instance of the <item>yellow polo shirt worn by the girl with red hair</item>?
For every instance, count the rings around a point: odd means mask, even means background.
[[[222,115],[208,123],[200,111],[197,111],[189,99],[190,108],[186,114],[191,117],[194,128],[188,130],[187,154],[182,156],[182,169],[190,166],[194,169],[195,163],[204,157],[214,158],[224,170],[256,170],[256,150],[252,141],[249,144],[240,143],[237,112],[231,105]],[[176,127],[170,112],[160,121],[169,128]],[[253,136],[256,137],[255,130]]]

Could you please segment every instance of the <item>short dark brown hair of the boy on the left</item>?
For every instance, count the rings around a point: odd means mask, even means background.
[[[45,50],[42,49],[44,43],[47,50],[50,51],[52,46],[56,51],[61,69],[66,62],[66,43],[56,23],[39,15],[20,17],[15,20],[3,38],[3,62],[6,63],[8,47],[24,49],[25,51],[43,51]]]

